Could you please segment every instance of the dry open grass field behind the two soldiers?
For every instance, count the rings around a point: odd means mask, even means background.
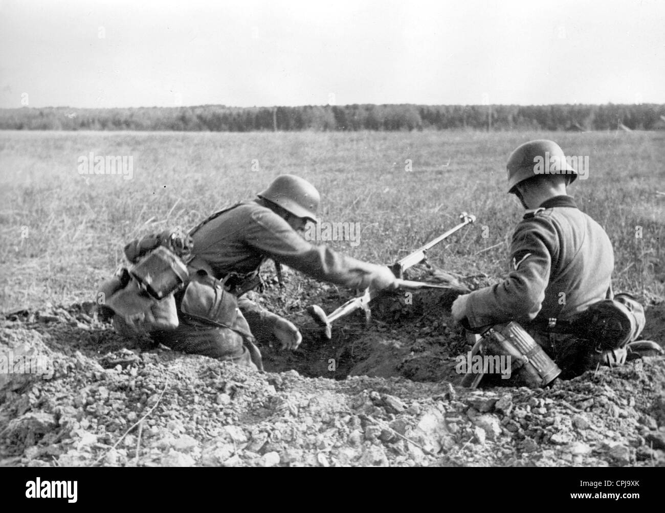
[[[499,278],[523,215],[505,194],[505,163],[533,138],[589,155],[589,177],[570,193],[612,240],[615,290],[665,296],[662,133],[2,132],[0,308],[90,300],[126,242],[192,227],[280,173],[319,188],[323,221],[360,223],[360,244],[331,246],[374,262],[392,262],[456,225],[461,211],[473,213],[477,225],[431,260]],[[77,159],[90,152],[132,156],[132,179],[80,175]]]

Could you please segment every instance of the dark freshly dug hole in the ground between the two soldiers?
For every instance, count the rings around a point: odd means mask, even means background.
[[[438,270],[421,270],[412,279],[456,288],[382,294],[371,304],[370,324],[365,324],[362,312],[354,312],[332,325],[332,340],[325,340],[323,329],[307,316],[292,318],[303,333],[301,347],[283,352],[262,346],[265,369],[295,369],[308,377],[331,379],[367,375],[457,383],[462,377],[455,371],[455,358],[471,346],[464,330],[452,320],[450,307],[466,285]],[[477,286],[477,278],[465,281]],[[324,310],[332,312],[339,304],[326,304]]]

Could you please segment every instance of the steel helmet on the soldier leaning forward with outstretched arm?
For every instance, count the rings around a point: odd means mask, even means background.
[[[297,217],[317,222],[321,195],[316,187],[296,175],[279,175],[259,197],[272,201]]]

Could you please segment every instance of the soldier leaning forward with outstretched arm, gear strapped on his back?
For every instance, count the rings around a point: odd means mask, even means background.
[[[302,340],[293,323],[245,296],[259,285],[265,260],[350,288],[394,288],[387,267],[303,239],[307,223],[317,222],[319,201],[311,183],[280,175],[256,199],[214,213],[186,235],[162,233],[133,241],[125,248],[136,264],[128,273],[130,288],[121,278],[106,285],[116,330],[132,334],[142,329],[174,350],[263,369],[257,339],[275,337],[289,349]],[[157,248],[168,253],[155,255]],[[166,270],[166,277],[156,268]]]

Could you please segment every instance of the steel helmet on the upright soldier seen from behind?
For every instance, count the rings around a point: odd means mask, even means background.
[[[577,178],[577,171],[566,160],[561,147],[554,141],[538,139],[525,142],[517,147],[509,157],[508,193],[515,192],[515,185],[534,176],[569,175],[572,183]]]

